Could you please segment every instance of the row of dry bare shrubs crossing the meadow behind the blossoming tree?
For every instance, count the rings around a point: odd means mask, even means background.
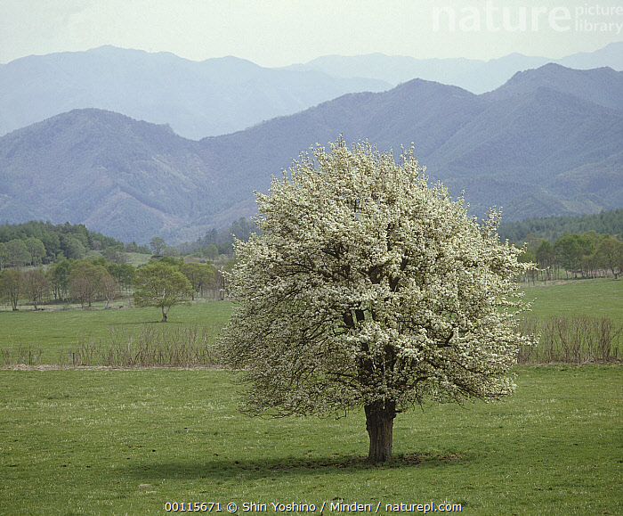
[[[538,345],[519,350],[520,364],[615,363],[623,359],[623,326],[609,317],[576,315],[539,322],[524,317],[517,327],[538,334]],[[108,342],[94,342],[83,334],[75,348],[63,349],[49,360],[41,348],[21,344],[0,348],[0,364],[108,367],[206,367],[220,362],[214,342],[217,329],[198,325],[143,324],[136,335],[113,328]]]

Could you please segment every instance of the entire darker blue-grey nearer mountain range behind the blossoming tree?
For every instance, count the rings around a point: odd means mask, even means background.
[[[124,241],[194,240],[255,212],[300,152],[344,135],[413,143],[431,180],[504,220],[623,207],[623,73],[546,64],[487,94],[414,79],[199,141],[96,109],[0,138],[0,222],[84,223]]]

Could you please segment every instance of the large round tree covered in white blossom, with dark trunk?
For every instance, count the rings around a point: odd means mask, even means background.
[[[413,152],[400,165],[368,143],[313,150],[257,194],[261,234],[236,242],[222,335],[249,386],[249,414],[344,414],[362,406],[368,460],[392,458],[396,414],[435,401],[510,395],[516,278],[528,264],[429,188]]]

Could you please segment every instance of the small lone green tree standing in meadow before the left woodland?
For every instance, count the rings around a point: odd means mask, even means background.
[[[156,262],[136,271],[134,302],[138,307],[160,307],[163,323],[171,307],[188,299],[191,293],[188,278],[175,266]]]

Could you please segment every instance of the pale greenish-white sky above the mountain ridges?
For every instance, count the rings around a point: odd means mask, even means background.
[[[385,53],[557,59],[623,41],[623,0],[0,0],[0,62],[101,45],[265,67]]]

